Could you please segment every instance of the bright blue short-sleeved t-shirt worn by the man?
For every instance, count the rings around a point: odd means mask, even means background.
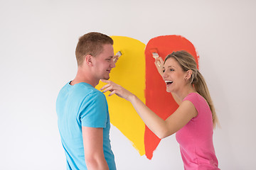
[[[116,169],[110,146],[110,115],[105,95],[87,83],[70,82],[60,90],[56,102],[58,128],[65,149],[67,169],[87,169],[82,126],[103,128],[103,151],[110,170]]]

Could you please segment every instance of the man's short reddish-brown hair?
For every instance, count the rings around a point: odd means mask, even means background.
[[[102,33],[87,33],[79,38],[78,45],[75,49],[75,57],[78,66],[85,60],[85,55],[97,56],[103,51],[103,45],[113,45],[113,40]]]

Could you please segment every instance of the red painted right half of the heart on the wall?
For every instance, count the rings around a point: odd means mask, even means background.
[[[151,49],[156,48],[160,57],[164,58],[173,51],[186,50],[191,53],[198,64],[198,55],[196,49],[191,42],[179,35],[165,35],[152,38],[146,45],[146,89],[145,98],[146,106],[148,106],[154,113],[166,120],[176,109],[178,104],[174,101],[171,94],[166,92],[166,84],[157,72],[154,65],[154,58],[150,52]],[[146,157],[151,159],[153,152],[159,145],[161,140],[154,135],[149,128],[146,127],[144,135],[144,145]]]

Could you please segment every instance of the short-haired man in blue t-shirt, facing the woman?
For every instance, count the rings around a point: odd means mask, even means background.
[[[100,79],[110,79],[115,67],[112,45],[112,38],[102,33],[82,35],[75,50],[77,75],[58,95],[58,128],[67,169],[116,169],[107,101],[95,89]]]

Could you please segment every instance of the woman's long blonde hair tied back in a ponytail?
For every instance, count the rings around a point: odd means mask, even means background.
[[[206,99],[208,105],[210,106],[210,111],[213,114],[213,128],[215,128],[216,125],[219,125],[218,117],[216,115],[215,108],[213,106],[213,101],[210,98],[210,93],[206,85],[206,80],[203,78],[202,74],[199,72],[197,68],[196,60],[191,54],[189,54],[184,50],[181,50],[181,51],[172,52],[170,55],[167,55],[164,62],[166,62],[166,60],[168,60],[171,57],[174,58],[178,62],[178,64],[180,64],[184,72],[188,70],[192,71],[191,78],[190,78],[191,84],[194,86],[198,94],[200,94],[201,96],[203,96],[203,98]]]

